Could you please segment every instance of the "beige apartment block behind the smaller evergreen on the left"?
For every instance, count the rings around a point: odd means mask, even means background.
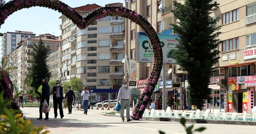
[[[17,69],[15,70],[17,72],[17,75],[14,77],[11,77],[12,82],[15,84],[15,86],[18,88],[19,91],[23,91],[23,93],[26,93],[28,90],[27,87],[25,89],[23,88],[23,83],[26,78],[26,76],[30,72],[30,67],[32,66],[32,51],[34,44],[38,44],[40,41],[40,38],[45,43],[44,45],[50,45],[50,53],[53,53],[54,51],[58,50],[58,46],[60,45],[61,41],[58,39],[58,37],[51,35],[51,34],[42,34],[39,36],[35,36],[28,39],[21,40],[18,44],[16,49],[12,51],[8,56],[10,57],[10,62],[12,65],[16,65]],[[12,57],[11,57],[12,56]],[[16,57],[13,59],[13,57]],[[54,64],[54,67],[58,67]],[[53,73],[54,75],[55,73]],[[11,74],[12,75],[12,74]],[[42,78],[43,79],[43,78]]]

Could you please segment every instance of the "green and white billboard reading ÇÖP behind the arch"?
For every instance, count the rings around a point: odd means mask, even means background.
[[[177,41],[178,35],[169,35],[169,34],[157,34],[162,51],[163,51],[163,63],[177,64],[176,60],[173,59],[173,51],[177,50],[176,45],[179,44]],[[137,61],[144,63],[152,63],[153,51],[150,44],[149,38],[144,32],[137,33]]]

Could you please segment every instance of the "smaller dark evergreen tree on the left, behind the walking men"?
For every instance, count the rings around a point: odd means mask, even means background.
[[[30,71],[30,79],[33,80],[31,87],[34,88],[34,93],[40,95],[38,88],[42,85],[42,79],[52,76],[49,70],[49,65],[47,65],[47,57],[49,56],[50,46],[44,45],[44,42],[40,38],[38,45],[34,44],[32,51],[32,67]]]

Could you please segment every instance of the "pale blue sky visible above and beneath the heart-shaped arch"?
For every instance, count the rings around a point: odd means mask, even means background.
[[[5,0],[6,3],[10,0]],[[86,4],[105,4],[120,2],[125,6],[125,0],[60,0],[68,6],[75,8]],[[61,13],[44,7],[24,8],[8,16],[0,28],[1,33],[18,31],[29,31],[39,34],[50,33],[56,36],[61,35],[59,25],[61,24]]]

